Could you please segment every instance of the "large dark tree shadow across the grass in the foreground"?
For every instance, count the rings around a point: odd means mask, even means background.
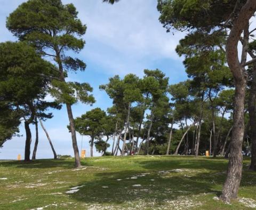
[[[213,193],[219,196],[221,191],[213,189],[210,180],[205,180],[208,173],[201,173],[191,177],[180,175],[177,172],[160,174],[150,171],[138,179],[126,179],[142,175],[145,171],[121,171],[116,173],[97,173],[93,181],[81,182],[84,185],[80,191],[70,196],[83,203],[124,204],[130,201],[143,200],[146,203],[154,201],[162,205],[166,200],[177,200],[201,196],[202,193]],[[120,181],[117,181],[121,179]],[[221,179],[223,182],[223,179]],[[135,184],[141,186],[135,187]],[[70,186],[75,187],[75,186]],[[108,187],[108,188],[103,188]],[[198,197],[199,198],[199,197]]]

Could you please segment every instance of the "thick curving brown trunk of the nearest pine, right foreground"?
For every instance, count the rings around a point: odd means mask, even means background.
[[[247,74],[244,68],[249,43],[249,20],[256,10],[256,1],[247,0],[238,13],[234,25],[230,30],[227,44],[226,56],[228,66],[233,74],[235,82],[234,102],[234,127],[232,140],[230,142],[230,156],[228,163],[227,178],[223,186],[221,199],[229,202],[237,198],[238,188],[242,177],[243,156],[242,144],[244,135],[244,101],[246,91]],[[238,59],[238,41],[244,30],[243,50],[241,63]]]

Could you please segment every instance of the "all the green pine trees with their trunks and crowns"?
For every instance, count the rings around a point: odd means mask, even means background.
[[[90,84],[67,82],[70,71],[86,68],[70,56],[83,49],[86,26],[73,4],[22,3],[6,20],[18,41],[0,44],[0,146],[24,124],[30,161],[34,124],[36,159],[39,122],[57,158],[43,122],[53,117],[49,108],[65,107],[69,125],[63,126],[71,133],[75,167],[81,166],[76,132],[89,136],[91,156],[93,147],[112,156],[197,157],[208,150],[229,158],[221,199],[237,198],[243,155],[251,156],[250,169],[256,171],[256,41],[250,27],[256,1],[158,0],[157,10],[163,30],[186,33],[176,52],[187,80],[170,84],[159,69],[141,69],[143,77],[115,75],[99,87],[113,106],[74,118],[73,104],[95,102]],[[55,101],[47,102],[47,94]]]

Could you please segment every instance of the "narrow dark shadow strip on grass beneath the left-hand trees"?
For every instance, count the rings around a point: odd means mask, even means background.
[[[81,161],[83,166],[89,166],[86,164],[85,161]],[[34,160],[34,161],[1,161],[0,166],[2,167],[17,167],[17,168],[74,168],[74,158],[72,159],[41,159],[41,160]]]

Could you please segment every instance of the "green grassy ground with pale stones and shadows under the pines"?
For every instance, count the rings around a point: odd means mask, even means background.
[[[250,209],[249,204],[256,205],[256,174],[247,170],[249,159],[244,160],[239,190],[239,197],[246,200],[231,204],[213,199],[220,195],[226,177],[227,160],[222,158],[86,158],[82,161],[86,169],[79,171],[73,171],[73,161],[0,162],[0,209]],[[126,179],[143,173],[138,179]],[[79,191],[66,193],[81,185]]]

